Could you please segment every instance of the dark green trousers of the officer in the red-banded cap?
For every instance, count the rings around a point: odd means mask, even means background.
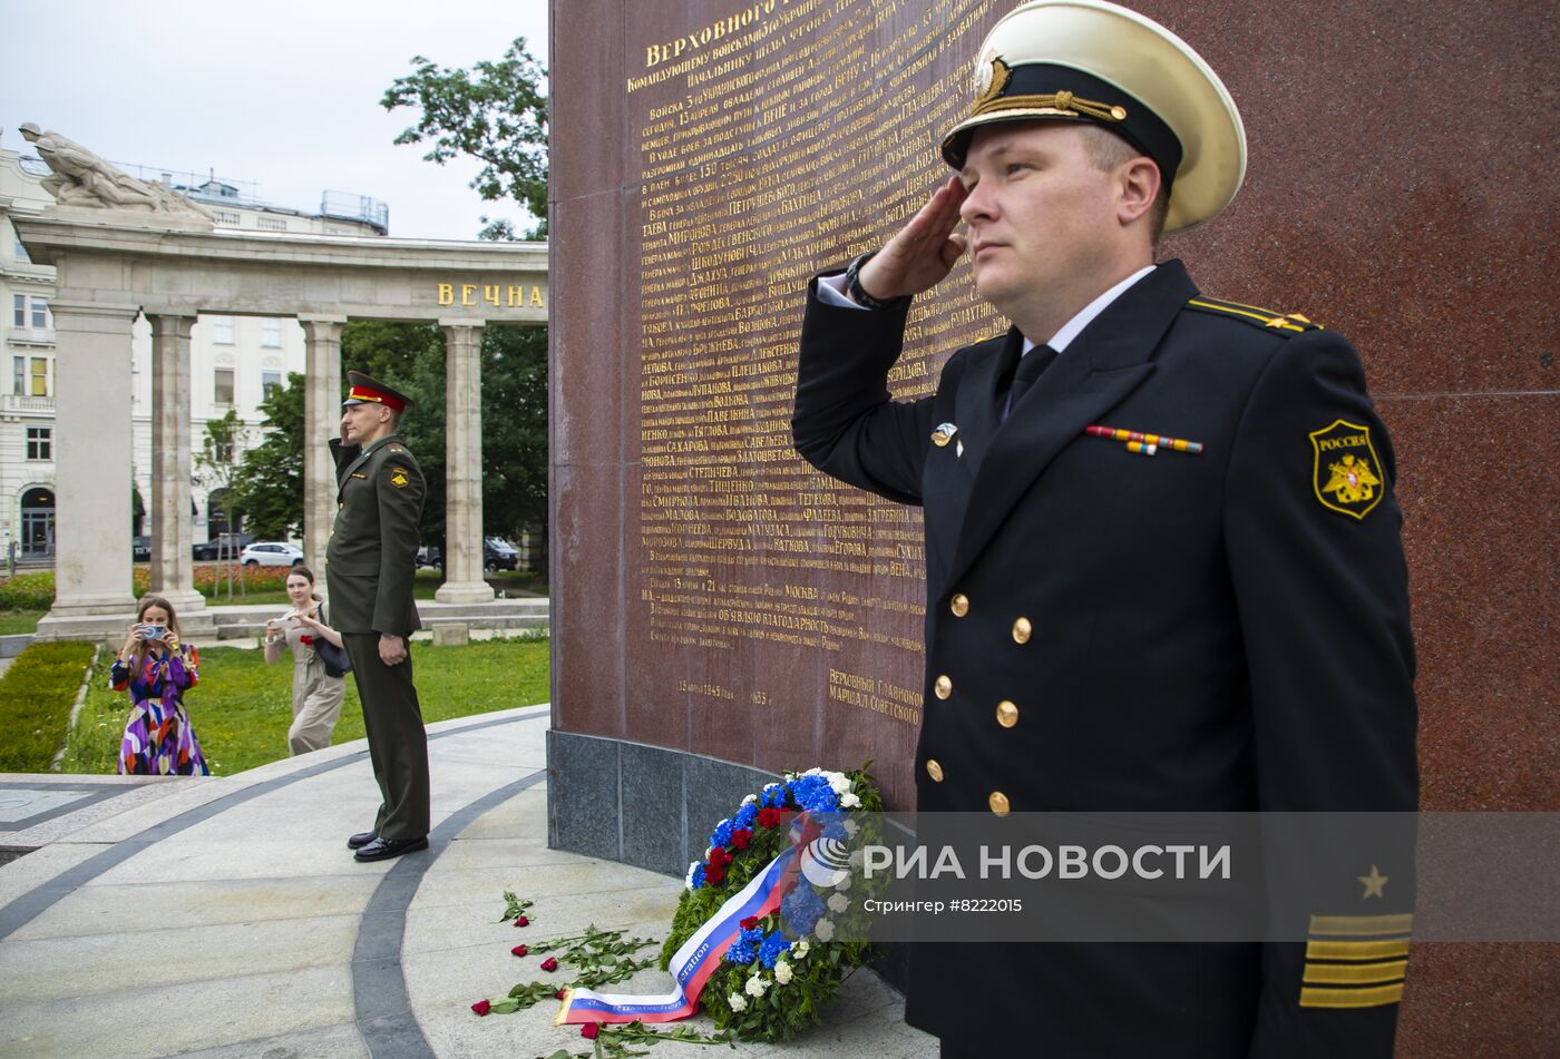
[[[374,833],[420,839],[429,830],[427,730],[412,683],[412,655],[399,666],[379,661],[379,633],[342,633],[353,660],[357,697],[363,700],[368,756],[379,781]],[[407,641],[410,652],[410,641]]]

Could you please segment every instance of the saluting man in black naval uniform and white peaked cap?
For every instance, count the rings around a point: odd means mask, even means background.
[[[1402,516],[1360,360],[1154,260],[1240,187],[1228,90],[1101,0],[1022,5],[975,75],[956,175],[811,284],[792,421],[817,468],[925,508],[922,820],[1412,814]],[[909,301],[966,251],[1012,328],[894,402]],[[1362,850],[1270,944],[914,945],[905,1015],[945,1056],[1385,1059],[1412,873]]]

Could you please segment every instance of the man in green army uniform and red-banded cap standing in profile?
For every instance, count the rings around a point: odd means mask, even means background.
[[[335,457],[335,532],[326,551],[331,622],[353,660],[363,702],[368,756],[384,799],[373,831],[346,841],[359,861],[427,848],[427,731],[412,683],[407,639],[421,627],[417,574],[423,469],[396,427],[412,404],[404,395],[348,371]]]

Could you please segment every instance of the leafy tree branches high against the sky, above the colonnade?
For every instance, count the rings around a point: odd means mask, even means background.
[[[515,37],[498,62],[482,61],[471,70],[441,67],[421,55],[417,67],[396,78],[379,100],[387,111],[412,108],[417,125],[396,136],[396,143],[432,142],[423,158],[443,165],[466,154],[482,162],[471,187],[487,201],[519,203],[537,226],[530,239],[548,237],[548,72]],[[482,218],[487,221],[487,218]],[[513,226],[493,221],[490,239],[513,239]]]

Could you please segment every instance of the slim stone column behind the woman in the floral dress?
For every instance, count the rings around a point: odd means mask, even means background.
[[[148,313],[151,321],[151,591],[173,604],[181,624],[203,610],[195,591],[190,521],[190,328],[195,317]]]

